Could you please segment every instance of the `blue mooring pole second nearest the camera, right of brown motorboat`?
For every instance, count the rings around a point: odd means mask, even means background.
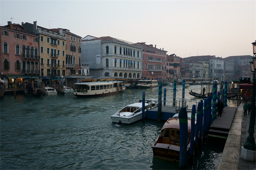
[[[196,117],[196,105],[193,104],[191,112],[191,134],[190,134],[190,164],[193,163],[194,158],[194,138],[195,138],[195,117]]]

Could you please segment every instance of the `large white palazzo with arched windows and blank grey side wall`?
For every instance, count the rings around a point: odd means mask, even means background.
[[[82,39],[82,64],[90,65],[90,76],[141,78],[141,46],[112,38]]]

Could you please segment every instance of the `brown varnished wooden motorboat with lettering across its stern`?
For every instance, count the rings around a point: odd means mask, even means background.
[[[196,122],[196,121],[195,121]],[[191,120],[188,119],[187,157],[190,155]],[[164,160],[180,160],[180,123],[178,118],[169,118],[152,147],[153,156]],[[195,138],[193,139],[195,140]]]

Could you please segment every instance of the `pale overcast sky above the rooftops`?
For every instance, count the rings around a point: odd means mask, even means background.
[[[81,37],[146,42],[182,58],[252,55],[256,40],[256,0],[0,0],[1,26],[10,18]]]

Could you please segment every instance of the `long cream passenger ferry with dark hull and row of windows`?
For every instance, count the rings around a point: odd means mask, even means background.
[[[120,81],[76,83],[74,95],[78,98],[117,94],[126,89]]]

